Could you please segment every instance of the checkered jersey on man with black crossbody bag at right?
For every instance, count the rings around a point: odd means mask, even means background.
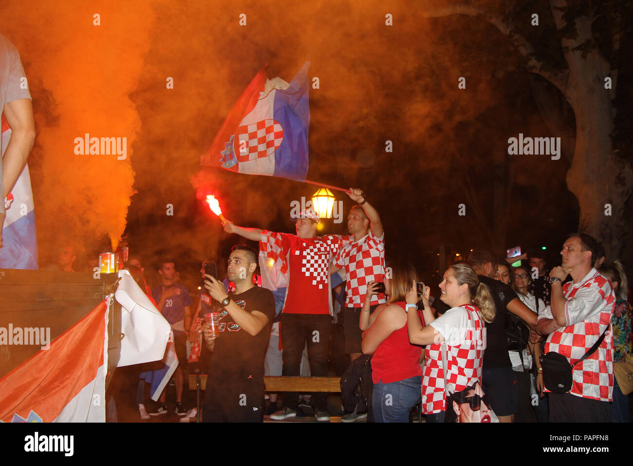
[[[545,353],[556,351],[573,365],[599,339],[606,326],[611,325],[615,294],[611,283],[596,269],[578,283],[563,285],[567,298],[565,317],[567,327],[550,333]],[[551,306],[539,313],[539,320],[552,319]],[[612,401],[613,399],[613,330],[609,328],[598,350],[573,366],[573,385],[570,393],[582,398]],[[548,390],[546,390],[548,391]]]

